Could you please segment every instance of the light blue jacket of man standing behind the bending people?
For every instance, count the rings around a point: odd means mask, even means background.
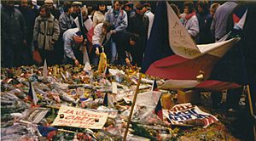
[[[119,10],[116,14],[114,14],[113,9],[108,10],[105,20],[108,20],[113,24],[115,32],[125,31],[128,25],[128,17],[125,10]]]

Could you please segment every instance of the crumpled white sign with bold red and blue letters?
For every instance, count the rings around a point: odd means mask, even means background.
[[[211,114],[201,111],[197,106],[190,103],[177,104],[172,107],[172,110],[164,112],[164,115],[174,125],[184,125],[184,121],[201,120],[203,127],[208,127],[218,119]]]

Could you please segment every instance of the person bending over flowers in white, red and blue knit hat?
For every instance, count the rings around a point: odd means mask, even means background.
[[[84,37],[79,28],[72,28],[64,32],[64,63],[79,65],[83,62],[85,47]],[[87,54],[87,52],[86,52]]]

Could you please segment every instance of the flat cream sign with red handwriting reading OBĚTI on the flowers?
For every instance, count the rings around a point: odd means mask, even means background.
[[[108,119],[108,113],[94,112],[61,105],[53,126],[102,129]]]

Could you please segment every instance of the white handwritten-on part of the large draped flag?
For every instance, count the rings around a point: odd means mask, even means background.
[[[202,54],[222,57],[234,43],[240,40],[236,37],[224,42],[196,45],[169,4],[167,4],[167,14],[170,48],[175,54],[183,58],[194,59]]]

